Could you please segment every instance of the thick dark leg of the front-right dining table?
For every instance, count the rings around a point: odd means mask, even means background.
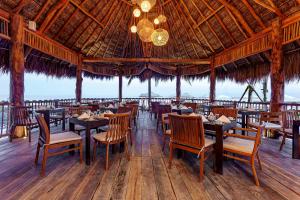
[[[216,126],[215,172],[223,174],[223,127]]]

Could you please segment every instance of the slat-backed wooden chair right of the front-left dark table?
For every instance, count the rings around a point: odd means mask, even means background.
[[[130,160],[128,150],[128,129],[130,113],[112,114],[109,116],[109,128],[107,132],[96,134],[94,138],[93,158],[96,159],[96,150],[98,144],[106,145],[105,169],[108,170],[109,145],[125,142],[125,151],[127,159]]]

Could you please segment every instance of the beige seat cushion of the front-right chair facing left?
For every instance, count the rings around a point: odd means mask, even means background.
[[[224,140],[223,148],[225,151],[234,150],[252,154],[254,148],[254,141],[235,137],[228,137]]]

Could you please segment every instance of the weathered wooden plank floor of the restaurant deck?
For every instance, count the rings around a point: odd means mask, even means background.
[[[91,166],[79,164],[78,154],[49,159],[46,177],[33,164],[37,132],[9,143],[0,139],[0,199],[300,199],[300,160],[291,159],[291,144],[278,151],[278,140],[264,140],[260,149],[261,186],[253,183],[250,168],[226,160],[224,175],[215,174],[208,160],[205,180],[198,181],[199,162],[185,154],[167,168],[168,150],[161,151],[161,134],[147,113],[138,120],[131,160],[110,154],[104,170],[104,148]]]

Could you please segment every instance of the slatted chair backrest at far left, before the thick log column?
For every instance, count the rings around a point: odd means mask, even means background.
[[[26,126],[31,124],[30,113],[27,106],[12,107],[12,122],[14,126]]]

